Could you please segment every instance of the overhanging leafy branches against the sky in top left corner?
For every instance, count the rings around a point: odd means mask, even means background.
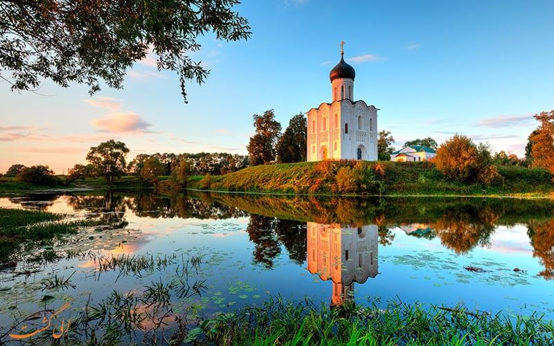
[[[13,91],[38,89],[42,80],[60,86],[100,82],[122,88],[127,69],[151,49],[159,70],[185,81],[204,82],[209,71],[191,55],[197,37],[247,39],[247,19],[233,12],[238,0],[175,1],[1,1],[0,79]]]

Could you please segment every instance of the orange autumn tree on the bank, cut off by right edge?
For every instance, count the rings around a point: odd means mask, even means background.
[[[539,127],[529,136],[533,167],[544,167],[554,173],[554,110],[535,114]]]

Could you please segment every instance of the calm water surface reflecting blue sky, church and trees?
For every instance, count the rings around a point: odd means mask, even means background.
[[[89,295],[100,302],[113,289],[141,293],[152,282],[173,280],[177,262],[197,255],[195,280],[205,280],[206,291],[172,297],[176,314],[192,304],[198,315],[210,315],[280,294],[325,304],[399,299],[554,316],[549,201],[107,194],[3,198],[0,206],[128,222],[124,230],[89,230],[55,246],[88,255],[40,264],[29,275],[13,274],[27,265],[18,255],[17,268],[1,274],[3,328],[44,307],[45,294],[55,297],[52,304],[71,302],[67,313],[75,314]],[[100,255],[145,254],[176,260],[141,275],[99,270]],[[75,289],[42,289],[54,273],[73,272]]]

